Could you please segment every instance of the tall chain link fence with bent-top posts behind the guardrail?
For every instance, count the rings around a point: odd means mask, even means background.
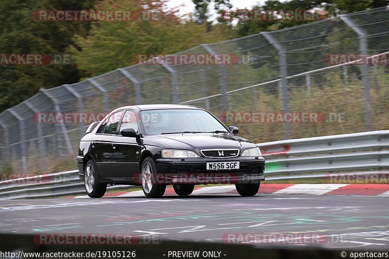
[[[388,53],[389,10],[377,8],[173,55],[225,54],[232,63],[157,59],[41,89],[0,113],[1,170],[74,168],[89,123],[133,104],[200,106],[257,143],[389,129]]]

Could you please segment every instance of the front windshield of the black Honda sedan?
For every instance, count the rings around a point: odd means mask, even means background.
[[[228,132],[210,113],[203,110],[170,109],[142,111],[141,122],[147,135]]]

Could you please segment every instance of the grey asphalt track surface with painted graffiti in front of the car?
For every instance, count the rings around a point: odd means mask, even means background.
[[[380,196],[291,194],[1,200],[0,232],[115,233],[218,243],[245,242],[239,234],[275,234],[282,244],[293,243],[280,241],[282,235],[305,233],[320,235],[320,246],[388,250],[388,205]],[[318,244],[308,237],[295,245]]]

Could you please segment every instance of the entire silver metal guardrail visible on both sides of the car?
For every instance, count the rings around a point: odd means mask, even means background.
[[[389,130],[258,144],[268,180],[325,178],[329,174],[389,174]],[[374,171],[373,171],[374,170]],[[270,177],[267,177],[270,176]],[[131,188],[116,185],[108,190]],[[85,194],[78,170],[0,182],[1,199]]]

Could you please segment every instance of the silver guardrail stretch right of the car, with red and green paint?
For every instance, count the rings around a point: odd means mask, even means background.
[[[258,146],[266,159],[266,176],[278,176],[266,179],[320,178],[314,173],[336,172],[366,175],[389,169],[389,130],[274,141]]]

